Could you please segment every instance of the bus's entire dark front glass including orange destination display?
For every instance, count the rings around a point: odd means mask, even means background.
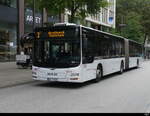
[[[81,47],[77,29],[48,31],[34,41],[33,65],[70,68],[80,65]]]

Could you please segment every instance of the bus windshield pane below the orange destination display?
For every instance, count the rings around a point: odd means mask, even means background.
[[[40,41],[40,40],[39,40]],[[51,68],[74,67],[80,64],[80,44],[78,41],[40,41],[35,42],[38,46],[34,54],[36,65]]]

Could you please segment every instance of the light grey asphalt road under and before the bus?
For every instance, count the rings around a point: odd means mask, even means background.
[[[99,83],[30,84],[0,89],[1,113],[150,112],[150,62]]]

